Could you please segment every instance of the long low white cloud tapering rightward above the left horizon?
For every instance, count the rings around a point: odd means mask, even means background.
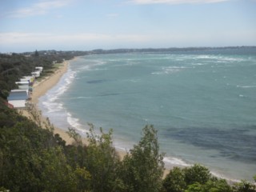
[[[37,34],[0,33],[0,52],[25,52],[32,50],[93,50],[138,46],[152,37],[142,34]]]

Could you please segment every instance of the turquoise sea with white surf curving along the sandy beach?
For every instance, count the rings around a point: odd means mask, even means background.
[[[233,180],[256,174],[255,48],[82,56],[38,106],[82,136],[88,122],[113,129],[122,150],[152,124],[167,168],[201,163]]]

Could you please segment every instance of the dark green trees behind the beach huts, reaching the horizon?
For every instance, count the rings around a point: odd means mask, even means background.
[[[42,76],[54,68],[55,62],[63,62],[75,56],[85,55],[81,51],[38,51],[24,54],[0,54],[0,97],[7,98],[9,91],[17,88],[22,76],[30,75],[35,66],[42,66]],[[54,70],[53,70],[54,71]],[[53,72],[52,71],[52,72]]]

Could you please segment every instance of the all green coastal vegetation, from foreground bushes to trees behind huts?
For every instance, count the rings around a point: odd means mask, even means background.
[[[0,191],[256,191],[251,182],[230,183],[199,164],[174,167],[163,177],[164,154],[160,153],[158,131],[152,125],[142,129],[138,144],[120,158],[113,145],[113,130],[100,129],[96,134],[90,124],[85,144],[70,129],[68,134],[74,142],[66,144],[54,134],[50,122],[42,125],[36,111],[31,110],[31,118],[26,118],[9,109],[5,99],[16,79],[30,73],[38,63],[52,71],[54,61],[82,54],[55,52],[1,55]]]

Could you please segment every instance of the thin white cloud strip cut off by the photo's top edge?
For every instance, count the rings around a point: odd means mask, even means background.
[[[130,0],[134,4],[184,4],[184,3],[215,3],[230,0]]]

